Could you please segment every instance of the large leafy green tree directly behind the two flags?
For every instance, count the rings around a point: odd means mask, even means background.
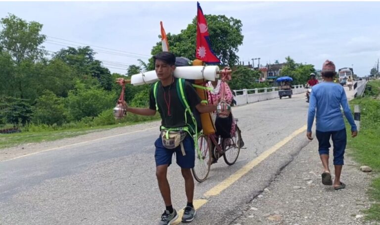
[[[241,34],[242,23],[240,20],[225,15],[205,15],[210,34],[211,48],[224,65],[233,66],[238,63],[238,47],[243,43]],[[195,59],[196,45],[196,17],[180,34],[167,34],[170,51],[176,56]],[[159,36],[160,38],[160,36]],[[151,54],[162,51],[161,42],[157,42]],[[152,59],[149,61],[149,69],[154,69]]]

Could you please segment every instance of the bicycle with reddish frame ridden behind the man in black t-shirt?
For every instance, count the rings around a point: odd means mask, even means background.
[[[196,181],[203,182],[206,180],[211,168],[211,154],[213,154],[216,159],[223,156],[224,162],[229,166],[234,165],[238,160],[243,142],[241,140],[241,131],[238,127],[237,118],[234,118],[233,126],[234,125],[235,129],[233,127],[231,138],[223,139],[216,134],[201,134],[198,137],[197,142],[200,155],[196,154],[195,166],[191,169]],[[219,139],[219,141],[217,141],[217,139]],[[212,149],[211,143],[214,144],[214,149]]]

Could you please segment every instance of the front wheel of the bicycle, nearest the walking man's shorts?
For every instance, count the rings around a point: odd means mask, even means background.
[[[195,150],[195,165],[191,169],[192,175],[195,180],[198,182],[203,182],[210,171],[211,166],[211,144],[208,139],[208,136],[202,134],[198,137],[198,147],[201,153],[201,156],[198,156],[198,153]]]

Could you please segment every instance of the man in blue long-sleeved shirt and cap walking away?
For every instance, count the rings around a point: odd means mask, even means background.
[[[340,182],[340,173],[343,167],[343,155],[347,143],[346,128],[343,120],[340,106],[343,108],[344,115],[351,125],[351,136],[356,137],[358,134],[346,93],[340,84],[334,83],[336,75],[335,65],[332,61],[326,60],[322,66],[322,77],[324,82],[313,86],[309,113],[307,118],[307,138],[313,140],[311,128],[316,117],[316,136],[319,143],[319,155],[323,164],[324,172],[322,173],[322,183],[333,185],[335,190],[345,188],[345,184]],[[329,169],[329,149],[330,138],[333,143],[333,156],[335,179],[332,184],[331,173]]]

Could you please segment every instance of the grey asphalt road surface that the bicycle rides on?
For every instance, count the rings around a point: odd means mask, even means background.
[[[233,109],[246,149],[240,151],[235,165],[227,166],[221,159],[212,165],[206,181],[195,184],[194,199],[205,204],[193,224],[233,224],[240,208],[308,144],[306,131],[283,142],[220,194],[204,194],[304,127],[307,109],[303,94]],[[153,143],[158,135],[158,127],[152,127],[0,162],[0,224],[156,224],[164,211],[155,177]],[[187,201],[175,158],[168,179],[173,206],[180,210]]]

